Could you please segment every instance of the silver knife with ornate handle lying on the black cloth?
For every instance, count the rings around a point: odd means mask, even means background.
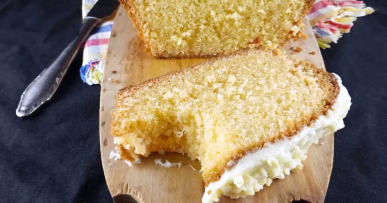
[[[17,116],[30,115],[51,98],[58,89],[82,43],[88,39],[93,28],[101,24],[104,18],[112,15],[118,5],[119,2],[117,0],[98,0],[84,19],[84,24],[79,30],[79,36],[25,88],[16,109]]]

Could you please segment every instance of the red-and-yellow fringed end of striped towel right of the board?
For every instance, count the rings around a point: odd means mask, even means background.
[[[348,33],[357,17],[373,13],[363,1],[356,0],[317,0],[306,16],[312,25],[321,49],[337,43],[343,33]]]

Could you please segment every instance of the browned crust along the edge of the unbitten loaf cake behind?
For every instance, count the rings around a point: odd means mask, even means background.
[[[139,16],[139,11],[137,11],[134,7],[134,1],[135,0],[118,0],[125,8],[126,10],[126,14],[128,15],[129,19],[131,20],[133,26],[136,28],[137,30],[137,33],[140,37],[140,39],[142,41],[144,41],[144,46],[145,46],[145,50],[149,53],[152,53],[152,55],[157,58],[157,59],[180,59],[180,58],[211,58],[211,57],[215,57],[215,56],[220,56],[220,55],[225,55],[227,53],[225,52],[219,52],[219,53],[215,53],[215,54],[208,54],[208,53],[200,53],[200,54],[195,54],[193,52],[191,53],[187,53],[187,54],[182,54],[182,53],[178,53],[178,54],[169,54],[167,52],[163,52],[163,51],[160,51],[156,48],[156,46],[154,44],[151,43],[151,41],[145,37],[144,33],[145,33],[145,30],[143,29],[143,27],[141,26],[140,22],[136,20],[136,16]],[[302,0],[304,2],[304,7],[301,11],[301,16],[302,18],[300,18],[297,22],[294,22],[293,25],[295,26],[298,26],[298,27],[303,27],[303,23],[302,23],[302,20],[303,20],[303,17],[305,17],[309,11],[312,9],[312,6],[315,2],[315,0]],[[298,39],[301,39],[301,38],[305,38],[306,35],[303,34],[302,31],[298,31],[297,33],[294,33],[294,31],[289,31],[283,39],[281,39],[281,42],[279,43],[279,47],[278,48],[281,48],[286,42],[288,42],[289,40],[298,40]],[[260,47],[260,40],[259,40],[259,37],[256,37],[255,40],[253,42],[251,42],[250,44],[247,44],[246,45],[246,48],[259,48]],[[157,50],[157,52],[152,52],[151,49],[153,50]]]

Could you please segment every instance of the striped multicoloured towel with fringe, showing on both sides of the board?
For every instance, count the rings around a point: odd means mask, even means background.
[[[82,16],[85,18],[98,0],[82,0]],[[117,0],[112,0],[117,1]],[[357,0],[316,0],[311,12],[306,16],[312,25],[320,48],[330,48],[337,43],[343,33],[350,31],[357,17],[373,13],[363,1]],[[96,28],[85,43],[80,77],[88,85],[102,81],[104,59],[112,31],[114,16]]]

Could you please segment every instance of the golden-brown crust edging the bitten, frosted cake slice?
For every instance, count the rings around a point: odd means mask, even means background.
[[[213,59],[210,59],[206,62],[188,67],[187,69],[183,69],[183,70],[180,70],[177,72],[173,72],[173,73],[170,73],[167,75],[163,75],[163,76],[145,81],[145,82],[143,82],[139,85],[136,85],[136,86],[125,87],[125,88],[119,90],[117,93],[116,105],[115,105],[114,111],[116,111],[117,109],[119,109],[121,107],[121,105],[124,103],[124,99],[126,97],[130,97],[134,92],[136,92],[139,89],[142,89],[144,87],[152,88],[152,87],[156,86],[159,82],[168,80],[173,75],[182,75],[186,72],[200,69],[201,67],[206,66],[208,64],[211,64],[211,63],[213,63],[213,61],[218,60],[218,59],[232,57],[235,55],[245,55],[245,54],[247,54],[248,51],[251,51],[251,49],[248,49],[248,48],[243,49],[243,50],[240,50],[240,51],[233,53],[230,56],[221,56],[221,57],[213,58]],[[262,51],[262,50],[252,50],[252,51],[258,52],[258,51]],[[279,55],[279,54],[284,54],[279,50],[273,50],[273,51],[269,51],[269,52],[272,52],[272,54],[274,56]],[[281,131],[277,136],[272,137],[270,139],[263,139],[259,143],[252,143],[246,149],[236,150],[235,153],[233,154],[232,158],[230,158],[228,160],[224,160],[221,163],[218,163],[217,166],[214,168],[214,170],[212,170],[207,175],[203,175],[203,179],[204,179],[206,186],[211,182],[215,182],[215,181],[219,180],[219,178],[225,172],[226,168],[232,166],[232,165],[227,165],[227,163],[229,163],[230,161],[235,163],[235,162],[237,162],[238,159],[243,157],[246,153],[259,150],[262,147],[264,147],[264,145],[266,143],[275,143],[275,142],[281,141],[283,139],[294,136],[295,134],[297,134],[297,132],[299,132],[302,129],[302,127],[310,126],[316,119],[318,119],[319,116],[324,116],[328,112],[328,110],[330,110],[333,107],[333,105],[335,104],[336,98],[337,98],[339,91],[340,91],[340,86],[338,85],[337,79],[333,74],[327,73],[326,71],[324,71],[322,69],[318,69],[315,65],[313,65],[307,61],[293,59],[287,55],[286,55],[286,57],[288,59],[291,59],[293,61],[293,63],[295,64],[295,66],[302,65],[302,67],[305,67],[305,70],[302,70],[302,71],[307,71],[307,70],[312,71],[313,74],[316,75],[316,78],[318,79],[317,83],[321,87],[325,87],[329,90],[328,96],[324,100],[325,105],[323,106],[323,108],[319,109],[318,111],[313,112],[311,115],[308,115],[308,116],[302,118],[300,120],[300,122],[292,123],[291,125],[289,125],[289,127],[286,130]],[[113,119],[112,119],[111,131],[115,137],[120,137],[120,133],[115,130],[115,128],[119,125],[119,123],[118,123],[118,118],[115,117],[114,111],[112,112]],[[130,160],[130,161],[134,160],[134,157],[122,145],[119,145],[119,149],[120,149],[120,154],[124,159]],[[181,151],[179,151],[178,149],[170,149],[170,151],[168,151],[168,152],[181,152]]]

